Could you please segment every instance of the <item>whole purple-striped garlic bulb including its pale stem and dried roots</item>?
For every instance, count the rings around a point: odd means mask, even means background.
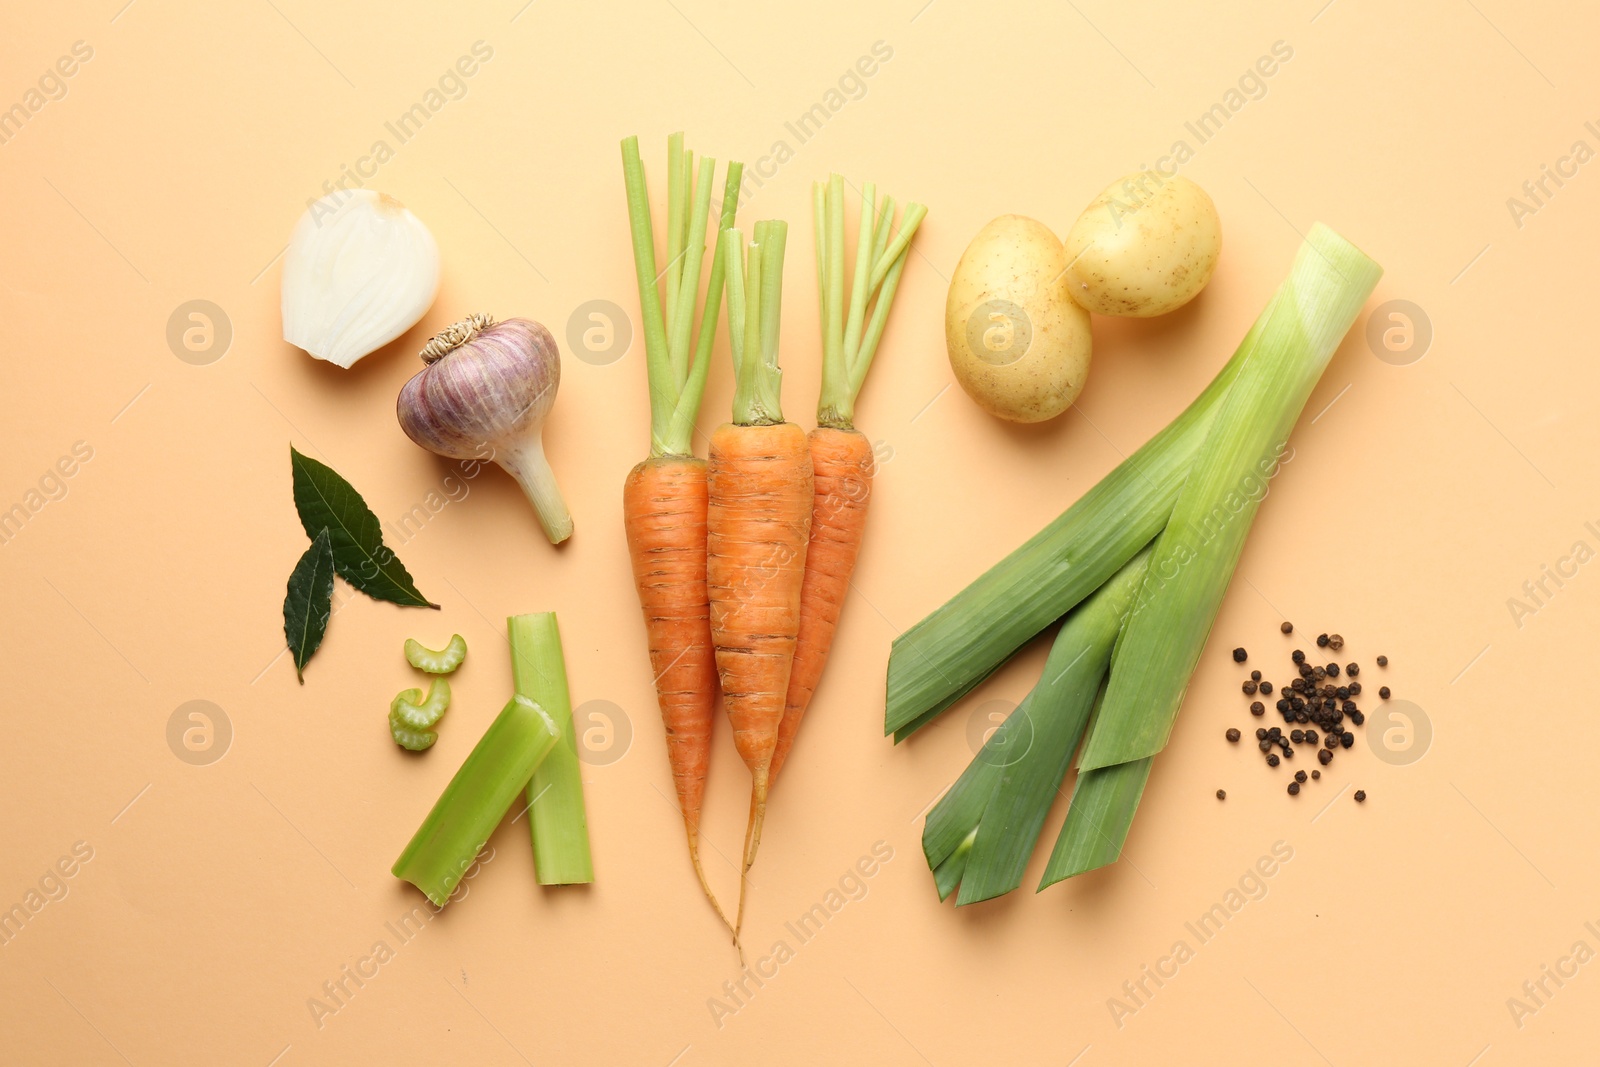
[[[395,405],[406,437],[450,459],[493,459],[533,501],[550,544],[573,536],[544,458],[544,416],[562,384],[550,331],[528,318],[472,315],[429,341],[422,362]]]

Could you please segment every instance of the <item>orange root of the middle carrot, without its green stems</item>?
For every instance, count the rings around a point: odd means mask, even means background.
[[[718,427],[706,483],[710,637],[733,742],[752,777],[744,841],[749,870],[762,843],[778,723],[800,632],[813,496],[805,430],[794,422]],[[742,889],[739,899],[742,912]]]

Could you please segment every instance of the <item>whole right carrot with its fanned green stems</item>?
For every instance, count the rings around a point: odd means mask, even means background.
[[[861,198],[854,282],[845,306],[845,179],[829,178],[813,186],[816,208],[818,288],[822,318],[822,394],[818,429],[811,432],[811,464],[816,491],[811,510],[811,544],[806,550],[800,592],[800,632],[794,670],[778,725],[778,747],[770,777],[776,779],[794,747],[816,685],[834,646],[834,632],[856,569],[872,498],[872,443],[854,427],[856,397],[872,366],[894,291],[910,250],[910,238],[926,208],[906,206],[901,229],[890,240],[894,200],[877,202],[867,182]],[[870,318],[867,307],[870,302]]]

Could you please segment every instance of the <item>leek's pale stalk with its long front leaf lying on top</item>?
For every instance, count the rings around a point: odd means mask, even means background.
[[[1310,229],[1246,338],[1245,363],[1155,544],[1083,769],[1166,745],[1290,430],[1381,275],[1326,226]]]

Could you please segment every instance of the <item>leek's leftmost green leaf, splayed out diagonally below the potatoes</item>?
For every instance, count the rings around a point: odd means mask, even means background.
[[[1011,555],[894,638],[883,733],[893,733],[898,742],[931,721],[1162,531],[1253,338],[1254,331],[1160,434]]]

